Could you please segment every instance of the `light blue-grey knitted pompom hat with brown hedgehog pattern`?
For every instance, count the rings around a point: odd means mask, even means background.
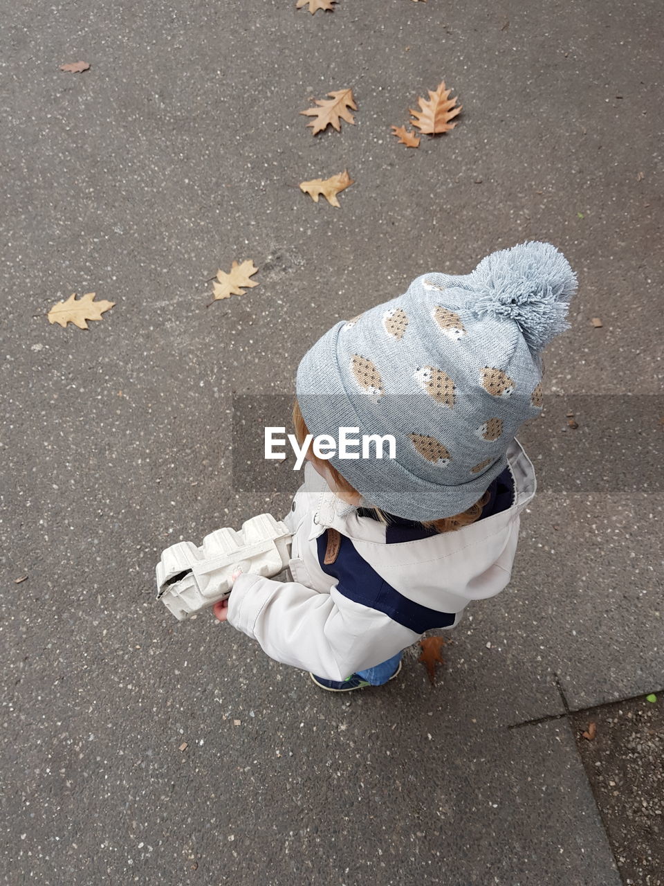
[[[341,427],[393,435],[394,459],[329,459],[367,505],[411,520],[461,513],[542,408],[540,352],[568,328],[575,290],[564,255],[537,242],[491,253],[465,276],[416,277],[305,354],[296,390],[307,428],[336,440]]]

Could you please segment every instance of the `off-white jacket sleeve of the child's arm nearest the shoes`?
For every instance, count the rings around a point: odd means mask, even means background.
[[[342,595],[297,581],[244,574],[228,597],[228,621],[268,656],[327,680],[381,664],[421,634]]]

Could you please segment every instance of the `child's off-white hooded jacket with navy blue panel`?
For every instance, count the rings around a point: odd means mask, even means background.
[[[455,532],[386,544],[385,525],[360,517],[307,462],[305,483],[284,518],[293,532],[293,580],[239,576],[228,598],[228,622],[259,641],[268,656],[328,680],[381,664],[431,628],[456,626],[468,602],[495,596],[509,583],[520,514],[536,479],[518,440],[507,463],[514,486],[510,508]],[[319,562],[318,540],[330,527],[344,537],[343,581]],[[374,578],[377,573],[380,585],[374,582],[368,595],[365,570]]]

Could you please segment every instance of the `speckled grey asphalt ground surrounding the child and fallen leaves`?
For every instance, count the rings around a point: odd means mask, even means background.
[[[603,706],[663,682],[659,0],[2,5],[2,882],[663,882],[661,831],[625,839],[584,766],[626,752]],[[398,144],[441,81],[457,128]],[[355,125],[314,137],[345,88]],[[338,208],[297,187],[346,168]],[[336,696],[175,622],[162,549],[297,486],[233,485],[233,395],[290,395],[337,320],[529,239],[579,279],[521,438],[542,482],[436,685],[413,648]],[[246,259],[259,286],[206,307]],[[72,292],[115,307],[51,325]],[[625,803],[662,789],[635,766]]]

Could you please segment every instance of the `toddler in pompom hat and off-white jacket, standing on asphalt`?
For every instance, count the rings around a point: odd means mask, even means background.
[[[403,649],[503,590],[536,489],[514,435],[542,408],[541,352],[575,290],[565,257],[528,242],[328,330],[297,369],[299,445],[351,428],[390,435],[394,457],[309,447],[284,518],[289,580],[237,574],[215,616],[347,692],[396,677]]]

